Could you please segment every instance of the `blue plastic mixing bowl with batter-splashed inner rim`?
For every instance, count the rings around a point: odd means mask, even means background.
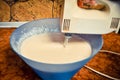
[[[102,47],[101,35],[75,34],[87,40],[92,47],[90,57],[65,64],[49,64],[26,58],[20,53],[22,41],[35,34],[60,32],[59,19],[41,19],[28,22],[17,28],[11,35],[10,45],[17,55],[21,57],[43,80],[70,80]],[[69,55],[68,55],[69,56]]]

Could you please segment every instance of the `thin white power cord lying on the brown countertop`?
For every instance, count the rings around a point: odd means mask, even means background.
[[[108,53],[111,53],[111,54],[115,54],[115,55],[120,56],[120,53],[116,53],[116,52],[108,51],[108,50],[100,50],[99,52],[108,52]],[[97,71],[97,70],[95,70],[95,69],[93,69],[93,68],[91,68],[91,67],[89,67],[89,66],[87,66],[87,65],[84,65],[84,67],[87,68],[87,69],[89,69],[89,70],[91,70],[91,71],[93,71],[93,72],[95,72],[95,73],[97,73],[97,74],[99,74],[99,75],[101,75],[101,76],[104,76],[104,77],[106,77],[106,78],[109,78],[109,79],[112,79],[112,80],[120,80],[120,79],[118,79],[118,78],[114,78],[114,77],[112,77],[112,76],[109,76],[109,75],[107,75],[107,74],[104,74],[104,73],[102,73],[102,72],[99,72],[99,71]]]

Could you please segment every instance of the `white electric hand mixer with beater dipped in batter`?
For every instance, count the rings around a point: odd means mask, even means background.
[[[107,34],[112,31],[120,33],[119,0],[97,0],[105,6],[102,10],[80,8],[78,1],[65,0],[64,3],[61,15],[61,32],[66,36],[64,46],[71,38],[71,33]]]

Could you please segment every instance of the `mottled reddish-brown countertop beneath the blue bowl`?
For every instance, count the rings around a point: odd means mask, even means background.
[[[11,33],[15,29],[0,29],[0,80],[40,80],[32,69],[12,51],[9,43]],[[120,35],[110,33],[103,35],[104,44],[102,49],[120,53]],[[92,58],[87,66],[120,78],[120,56],[110,53],[98,53]],[[72,80],[109,80],[83,67]]]

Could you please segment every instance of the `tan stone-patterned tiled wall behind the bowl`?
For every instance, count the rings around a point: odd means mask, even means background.
[[[0,0],[0,22],[58,18],[63,2],[63,0]]]

